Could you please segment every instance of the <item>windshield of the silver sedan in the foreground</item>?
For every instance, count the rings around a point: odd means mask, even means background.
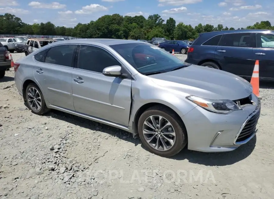
[[[110,45],[143,75],[152,75],[189,66],[174,55],[149,43]]]

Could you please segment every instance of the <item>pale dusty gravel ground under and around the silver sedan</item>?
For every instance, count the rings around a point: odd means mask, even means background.
[[[2,199],[273,198],[273,83],[261,83],[259,130],[247,144],[162,158],[125,131],[59,111],[31,113],[13,77],[11,69],[0,80]]]

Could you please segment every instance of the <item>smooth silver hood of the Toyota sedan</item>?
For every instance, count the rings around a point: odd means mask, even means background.
[[[159,86],[209,99],[239,100],[252,93],[252,86],[245,79],[196,65],[149,77]]]

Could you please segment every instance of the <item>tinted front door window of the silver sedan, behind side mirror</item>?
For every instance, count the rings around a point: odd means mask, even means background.
[[[80,46],[78,68],[102,73],[104,68],[115,65],[121,66],[107,51],[94,46]]]

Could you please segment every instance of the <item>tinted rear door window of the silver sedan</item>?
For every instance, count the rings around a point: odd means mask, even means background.
[[[62,45],[52,47],[46,55],[45,63],[71,67],[76,45]]]

